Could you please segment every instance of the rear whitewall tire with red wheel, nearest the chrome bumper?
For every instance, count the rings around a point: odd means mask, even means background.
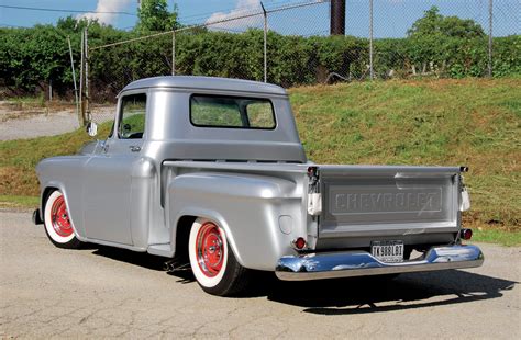
[[[226,240],[226,233],[215,223],[198,218],[188,242],[190,265],[201,288],[212,295],[233,296],[243,293],[251,272],[242,267]]]

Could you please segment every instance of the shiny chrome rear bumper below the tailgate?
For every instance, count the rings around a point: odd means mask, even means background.
[[[306,281],[473,268],[483,264],[476,246],[433,247],[420,259],[385,263],[365,251],[308,253],[279,259],[275,273],[284,281]]]

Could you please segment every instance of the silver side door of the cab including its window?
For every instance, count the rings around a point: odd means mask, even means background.
[[[142,152],[146,95],[120,99],[114,131],[85,169],[84,222],[90,239],[133,245],[131,234],[131,174]]]

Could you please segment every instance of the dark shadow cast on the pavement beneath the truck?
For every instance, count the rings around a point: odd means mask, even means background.
[[[92,253],[165,271],[165,258],[124,249],[92,246]],[[193,283],[190,270],[168,272],[178,283]],[[242,298],[268,301],[304,308],[320,315],[351,315],[443,306],[503,296],[519,282],[462,270],[402,274],[395,280],[379,276],[308,282],[282,282],[273,273],[255,273],[255,283]]]

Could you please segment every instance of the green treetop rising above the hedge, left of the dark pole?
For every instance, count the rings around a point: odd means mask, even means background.
[[[177,5],[174,5],[170,13],[166,0],[141,0],[137,18],[140,22],[136,29],[142,33],[170,31],[179,27]]]

